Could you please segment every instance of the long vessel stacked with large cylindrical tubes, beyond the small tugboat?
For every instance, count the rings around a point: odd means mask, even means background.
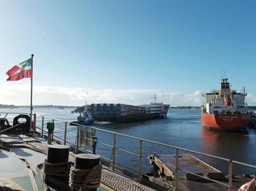
[[[134,122],[165,118],[170,105],[151,102],[149,105],[92,104],[90,112],[96,121]]]

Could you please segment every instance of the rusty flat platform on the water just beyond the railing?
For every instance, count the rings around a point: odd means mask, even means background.
[[[175,155],[155,155],[154,164],[158,167],[158,175],[160,174],[160,177],[156,179],[161,180],[162,183],[156,180],[153,180],[153,181],[154,183],[159,184],[159,186],[161,187],[161,191],[167,191],[167,187],[164,185],[164,183],[167,183],[169,185],[173,184],[173,179],[175,174]],[[225,184],[228,184],[229,182],[228,177],[224,176],[221,178],[220,176],[221,172],[219,170],[209,166],[208,164],[193,157],[192,155],[188,155],[188,154],[179,155],[178,168],[185,171],[192,172],[192,173],[202,173],[203,177],[206,177],[206,178],[208,177],[209,173],[213,173],[213,176],[214,176],[214,178],[212,178],[213,180],[217,180]],[[227,191],[228,189],[222,184],[213,182],[211,180],[201,179],[199,177],[196,177],[195,175],[193,176],[192,174],[186,175],[185,171],[181,171],[181,170],[178,171],[178,176],[179,176],[178,184],[179,184],[179,188],[182,191],[211,191],[211,190]],[[251,179],[248,179],[243,176],[234,176],[233,184],[232,184],[233,188],[231,188],[229,191],[237,191],[244,183],[250,180]]]

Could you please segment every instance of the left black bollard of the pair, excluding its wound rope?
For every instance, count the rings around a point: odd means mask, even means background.
[[[67,162],[69,160],[70,146],[49,145],[47,151],[48,163]],[[69,177],[45,175],[46,183],[58,191],[70,191]]]

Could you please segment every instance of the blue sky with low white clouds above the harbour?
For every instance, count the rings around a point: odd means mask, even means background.
[[[221,70],[256,106],[255,0],[0,0],[0,104],[200,106]]]

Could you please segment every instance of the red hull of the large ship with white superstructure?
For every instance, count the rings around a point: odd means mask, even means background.
[[[201,114],[202,126],[221,130],[237,130],[248,127],[249,115]]]

